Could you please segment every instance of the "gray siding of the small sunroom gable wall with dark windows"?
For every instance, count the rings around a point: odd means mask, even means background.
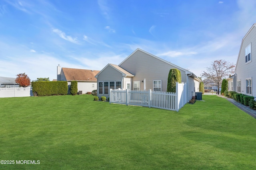
[[[117,71],[116,69],[112,68],[111,66],[107,66],[99,75],[97,78],[97,96],[101,98],[102,96],[105,96],[106,98],[109,97],[109,95],[106,94],[99,94],[99,83],[98,82],[109,82],[109,81],[122,81],[122,73]]]

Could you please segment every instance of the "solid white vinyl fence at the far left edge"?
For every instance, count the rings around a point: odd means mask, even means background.
[[[32,87],[0,88],[0,98],[33,96]]]

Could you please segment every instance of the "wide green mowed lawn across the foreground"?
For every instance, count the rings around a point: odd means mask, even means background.
[[[15,161],[0,169],[256,169],[256,119],[203,100],[176,112],[91,95],[0,98],[0,160]]]

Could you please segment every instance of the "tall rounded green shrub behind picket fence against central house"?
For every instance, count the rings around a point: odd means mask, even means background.
[[[168,74],[167,92],[176,92],[176,82],[181,83],[180,70],[172,68]]]

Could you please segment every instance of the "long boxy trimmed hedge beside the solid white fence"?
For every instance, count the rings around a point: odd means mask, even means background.
[[[52,96],[68,94],[68,82],[33,82],[34,96]]]

